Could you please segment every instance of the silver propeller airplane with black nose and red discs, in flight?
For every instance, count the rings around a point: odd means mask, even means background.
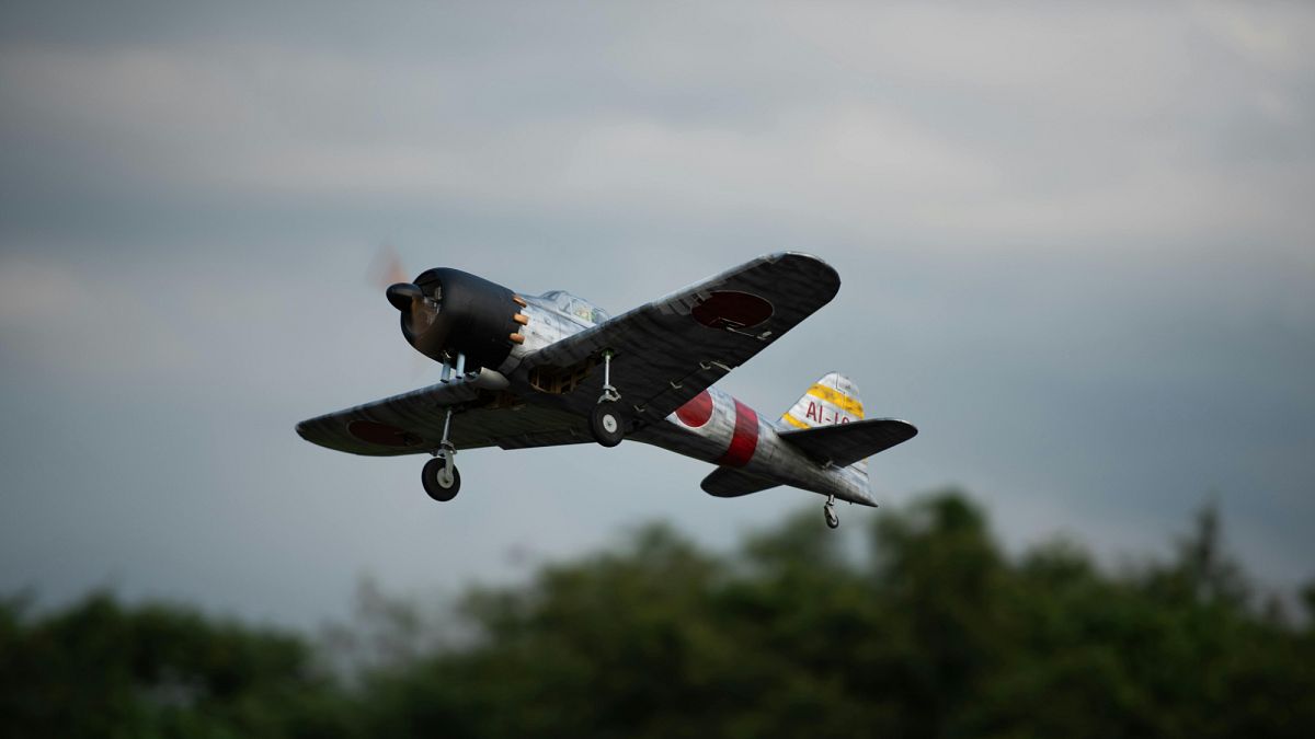
[[[462,487],[456,452],[623,439],[717,465],[702,489],[738,497],[777,485],[876,506],[867,458],[918,434],[864,418],[857,387],[828,373],[769,421],[714,387],[831,301],[840,277],[800,252],[759,256],[610,317],[564,291],[513,292],[441,267],[387,288],[402,335],[442,364],[439,383],[297,423],[308,442],[351,454],[430,455],[429,497]],[[851,317],[857,323],[857,317]]]

